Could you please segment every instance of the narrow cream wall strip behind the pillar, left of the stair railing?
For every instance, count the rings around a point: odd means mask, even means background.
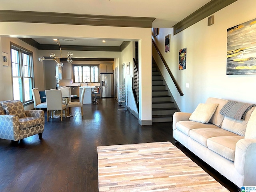
[[[133,68],[133,52],[134,44],[130,42],[122,51],[122,63],[125,63],[125,87],[126,87],[126,105],[138,114],[136,102],[132,93],[132,68]],[[129,63],[130,73],[127,74],[127,65]]]

